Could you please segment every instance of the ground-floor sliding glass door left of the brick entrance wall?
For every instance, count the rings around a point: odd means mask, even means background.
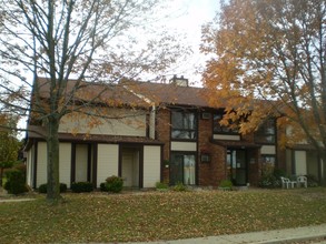
[[[195,153],[171,153],[170,184],[196,184],[196,156]]]

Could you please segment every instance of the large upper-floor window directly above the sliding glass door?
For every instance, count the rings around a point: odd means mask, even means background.
[[[172,139],[197,139],[196,114],[185,111],[172,111]]]

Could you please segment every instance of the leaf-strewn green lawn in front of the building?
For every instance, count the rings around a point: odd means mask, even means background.
[[[326,189],[63,194],[0,203],[0,243],[175,240],[326,223]]]

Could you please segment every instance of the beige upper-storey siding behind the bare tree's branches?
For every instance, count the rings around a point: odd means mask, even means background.
[[[107,110],[107,116],[113,119],[95,119],[68,114],[62,119],[59,131],[66,133],[146,136],[146,114],[144,111]],[[91,111],[89,112],[92,113]]]

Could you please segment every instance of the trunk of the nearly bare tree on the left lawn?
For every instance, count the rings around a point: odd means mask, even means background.
[[[62,199],[59,183],[59,119],[51,116],[48,123],[48,189],[47,200],[49,203],[58,204]]]

